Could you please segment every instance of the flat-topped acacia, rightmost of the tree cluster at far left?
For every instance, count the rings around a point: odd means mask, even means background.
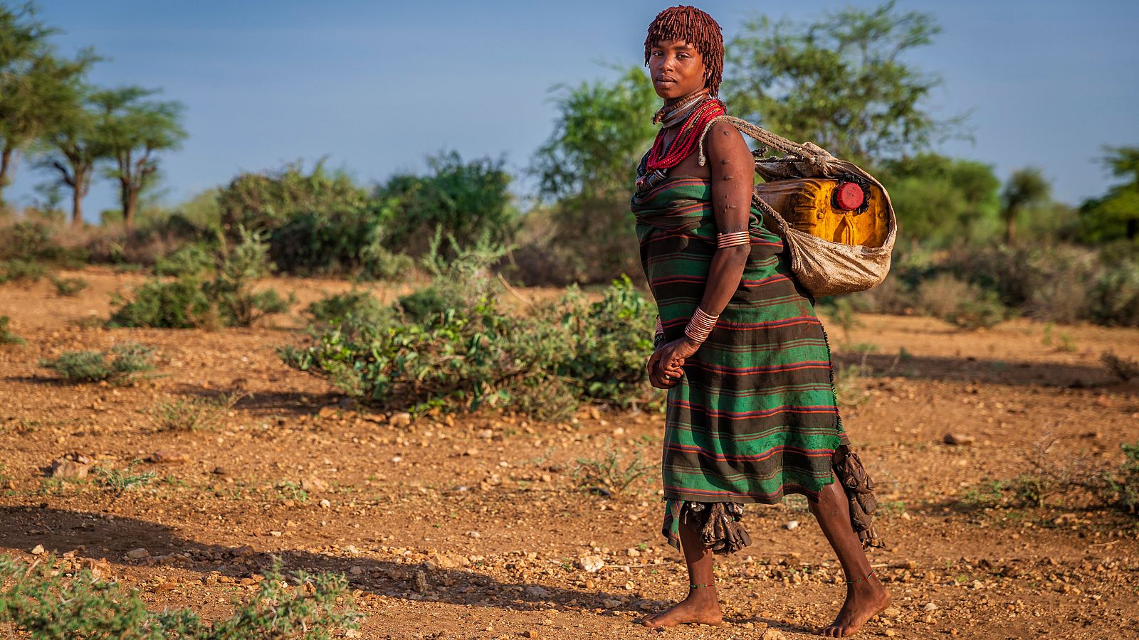
[[[125,87],[98,91],[91,100],[99,110],[99,130],[114,165],[107,174],[118,181],[123,223],[134,225],[139,194],[157,177],[158,151],[177,149],[186,139],[185,107],[177,100],[150,100],[156,90]]]

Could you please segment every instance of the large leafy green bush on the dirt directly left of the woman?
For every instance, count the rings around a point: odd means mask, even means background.
[[[449,263],[429,254],[433,290],[402,298],[390,322],[318,331],[282,360],[393,408],[485,404],[552,419],[582,401],[628,404],[644,393],[652,312],[628,279],[592,304],[571,292],[511,315],[490,285],[500,251],[456,254]]]

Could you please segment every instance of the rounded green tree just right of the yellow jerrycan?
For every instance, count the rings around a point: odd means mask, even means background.
[[[880,163],[878,178],[899,228],[923,245],[984,240],[1000,228],[1000,180],[990,165],[920,154]]]

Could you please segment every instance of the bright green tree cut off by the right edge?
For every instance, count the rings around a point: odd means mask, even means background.
[[[1139,147],[1105,147],[1104,164],[1124,180],[1080,206],[1084,238],[1092,243],[1139,240]]]

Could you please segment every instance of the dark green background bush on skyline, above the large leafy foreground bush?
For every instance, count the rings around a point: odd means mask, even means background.
[[[436,231],[460,245],[509,243],[518,215],[503,165],[489,157],[464,162],[458,151],[449,151],[427,158],[427,175],[393,177],[376,191],[377,199],[392,205],[388,246],[419,253]]]

